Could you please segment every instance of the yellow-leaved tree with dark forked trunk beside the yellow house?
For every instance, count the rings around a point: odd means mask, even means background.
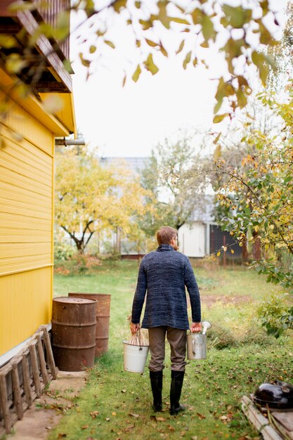
[[[84,252],[93,234],[119,231],[139,240],[138,220],[152,209],[144,190],[124,167],[104,168],[89,148],[56,156],[56,224]]]

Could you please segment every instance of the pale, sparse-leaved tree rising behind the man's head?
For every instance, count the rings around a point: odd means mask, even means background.
[[[152,194],[152,216],[143,219],[142,228],[155,235],[162,225],[180,228],[193,219],[193,212],[204,209],[202,179],[178,179],[202,159],[195,153],[194,135],[179,131],[176,138],[165,138],[152,150],[150,161],[143,169],[143,187]]]

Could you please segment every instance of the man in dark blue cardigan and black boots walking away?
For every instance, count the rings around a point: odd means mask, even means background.
[[[150,384],[153,408],[162,410],[162,381],[165,337],[171,348],[170,414],[184,410],[179,403],[185,373],[186,330],[202,330],[200,292],[188,257],[178,250],[177,231],[163,226],[157,232],[159,247],[141,260],[131,315],[131,333],[140,328],[141,311],[146,295],[142,328],[148,328],[150,341]],[[188,323],[187,287],[192,324]]]

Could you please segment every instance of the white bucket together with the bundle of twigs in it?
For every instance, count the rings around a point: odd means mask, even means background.
[[[143,373],[148,357],[148,343],[139,329],[129,341],[123,341],[124,370],[131,373]]]

